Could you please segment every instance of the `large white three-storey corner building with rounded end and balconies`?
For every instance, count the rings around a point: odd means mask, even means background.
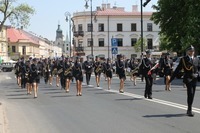
[[[144,49],[155,50],[158,48],[160,31],[159,26],[150,20],[152,12],[143,13],[143,36],[147,47]],[[74,46],[77,55],[85,57],[91,54],[91,12],[76,12],[73,15],[74,22]],[[127,12],[123,7],[110,7],[110,4],[102,4],[93,12],[93,55],[105,55],[112,57],[111,39],[118,42],[118,54],[130,58],[136,52],[134,45],[141,37],[141,13],[138,6],[133,5],[132,11]]]

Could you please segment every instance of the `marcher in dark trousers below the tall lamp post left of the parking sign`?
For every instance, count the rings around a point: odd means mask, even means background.
[[[83,69],[85,71],[85,76],[86,76],[86,83],[87,85],[90,84],[90,78],[93,70],[93,57],[87,56],[87,60],[83,63]]]

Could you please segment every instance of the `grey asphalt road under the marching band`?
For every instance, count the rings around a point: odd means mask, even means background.
[[[111,90],[103,76],[99,88],[83,85],[83,96],[53,86],[39,85],[38,98],[26,95],[14,74],[0,73],[0,102],[6,112],[8,133],[199,133],[200,87],[194,100],[194,117],[186,116],[186,89],[175,80],[172,91],[164,90],[163,79],[153,86],[153,100],[143,98],[144,82],[137,86],[127,78],[125,93],[119,94],[114,77]]]

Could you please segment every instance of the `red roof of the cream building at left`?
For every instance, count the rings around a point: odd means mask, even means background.
[[[9,39],[9,42],[11,42],[11,43],[17,43],[17,42],[23,40],[26,42],[30,42],[30,43],[39,45],[39,43],[36,40],[33,40],[31,37],[27,36],[21,29],[8,28],[7,29],[7,37]]]

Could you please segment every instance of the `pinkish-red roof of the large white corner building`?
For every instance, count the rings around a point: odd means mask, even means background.
[[[153,12],[143,12],[143,15],[151,16]],[[134,11],[134,12],[127,12],[121,9],[104,9],[101,11],[97,11],[96,15],[98,16],[139,16],[141,15],[141,12]]]

